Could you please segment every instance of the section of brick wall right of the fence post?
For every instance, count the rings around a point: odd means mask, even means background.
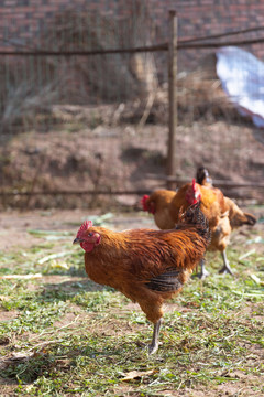
[[[178,11],[179,36],[191,39],[218,33],[264,26],[264,2],[258,0],[187,0],[174,1]],[[264,37],[263,32],[240,34],[221,41]],[[243,46],[264,61],[264,43]],[[189,50],[179,54],[182,66],[194,66],[205,54],[213,50]]]

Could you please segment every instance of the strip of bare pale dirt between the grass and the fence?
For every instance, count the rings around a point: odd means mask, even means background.
[[[134,198],[135,200],[135,198]],[[140,201],[140,197],[136,200]],[[241,208],[246,211],[246,206],[242,205]],[[255,233],[264,233],[264,207],[255,206],[254,208],[248,210],[252,214],[256,216],[258,222],[254,226]],[[26,233],[26,230],[63,230],[63,232],[73,232],[73,238],[75,237],[75,233],[78,230],[79,225],[85,219],[89,219],[89,217],[100,216],[102,213],[99,210],[48,210],[48,211],[29,211],[29,212],[20,212],[20,211],[7,211],[0,213],[0,250],[9,250],[13,247],[24,247],[29,248],[35,244],[40,244],[42,242],[41,236],[34,236],[32,234]],[[109,227],[123,230],[127,228],[156,228],[154,224],[154,219],[152,216],[143,214],[142,212],[116,212],[109,213]],[[243,228],[241,228],[238,233],[243,234]],[[237,230],[233,233],[238,234]],[[44,242],[44,240],[43,240]],[[258,247],[262,249],[262,245],[256,245],[256,249]]]

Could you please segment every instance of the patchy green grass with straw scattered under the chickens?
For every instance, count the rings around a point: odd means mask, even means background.
[[[220,396],[231,386],[232,395],[262,396],[264,254],[246,245],[255,237],[237,234],[230,245],[233,278],[219,276],[221,258],[208,253],[210,276],[167,302],[153,356],[144,313],[85,277],[70,237],[0,253],[0,275],[43,275],[0,280],[0,395]],[[65,255],[50,257],[58,244]]]

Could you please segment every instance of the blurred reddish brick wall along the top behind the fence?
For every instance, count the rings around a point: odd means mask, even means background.
[[[125,0],[1,0],[0,49],[34,47],[43,26],[66,11],[129,14],[133,13],[133,3],[135,0],[129,3]],[[178,12],[179,37],[184,39],[264,25],[264,1],[260,0],[147,0],[147,4],[165,36],[169,9]],[[246,35],[248,39],[256,36],[264,36],[264,32]],[[245,50],[264,60],[263,44]],[[195,66],[208,52],[212,50],[180,52],[180,68]]]

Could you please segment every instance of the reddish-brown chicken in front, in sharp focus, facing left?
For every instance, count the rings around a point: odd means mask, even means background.
[[[154,323],[150,354],[158,347],[163,302],[180,292],[210,240],[199,204],[182,214],[179,222],[173,230],[124,232],[92,227],[91,222],[85,222],[74,240],[85,250],[90,279],[138,302]]]

